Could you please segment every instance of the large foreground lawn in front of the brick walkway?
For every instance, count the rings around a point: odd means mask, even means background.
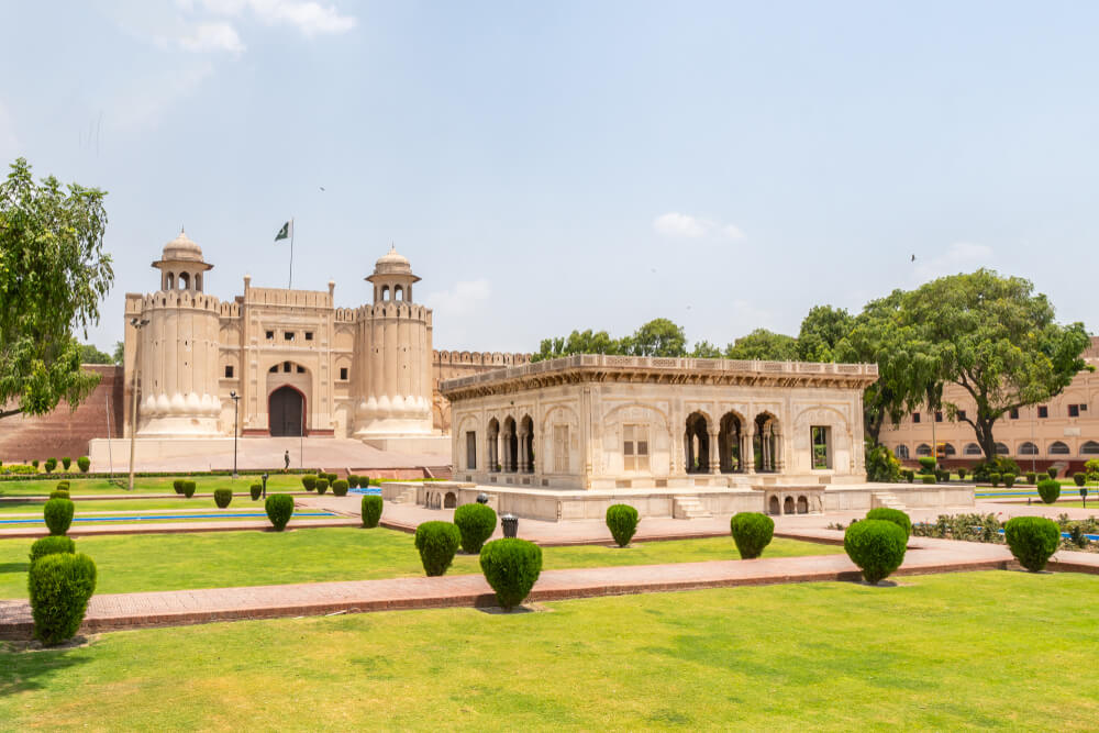
[[[986,571],[0,651],[8,730],[1095,730],[1094,577]]]

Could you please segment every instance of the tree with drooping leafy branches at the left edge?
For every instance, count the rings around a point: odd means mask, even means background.
[[[104,197],[53,176],[35,184],[23,158],[0,184],[0,418],[76,407],[99,382],[73,331],[87,337],[114,280]]]

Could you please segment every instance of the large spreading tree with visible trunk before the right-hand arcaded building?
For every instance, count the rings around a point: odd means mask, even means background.
[[[953,402],[943,407],[973,427],[988,460],[996,458],[997,420],[1061,393],[1090,368],[1080,358],[1089,344],[1084,324],[1058,325],[1053,306],[1033,291],[1030,280],[979,269],[932,280],[904,298],[903,322],[936,345],[940,377],[962,387],[977,409],[963,415]]]

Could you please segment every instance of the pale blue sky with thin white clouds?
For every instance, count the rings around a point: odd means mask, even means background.
[[[231,300],[287,285],[291,216],[296,288],[368,302],[393,244],[436,348],[724,345],[978,267],[1094,331],[1096,37],[1084,2],[8,0],[0,160],[109,192],[108,352],[180,226]]]

